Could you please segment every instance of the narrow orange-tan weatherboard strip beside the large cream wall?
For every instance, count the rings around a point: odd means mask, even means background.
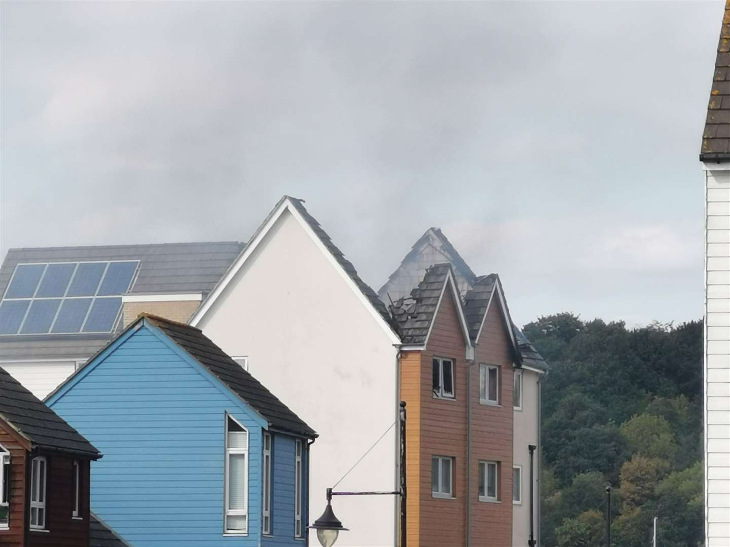
[[[401,400],[406,403],[407,539],[418,546],[420,538],[420,352],[401,354]],[[430,490],[429,490],[430,492]]]

